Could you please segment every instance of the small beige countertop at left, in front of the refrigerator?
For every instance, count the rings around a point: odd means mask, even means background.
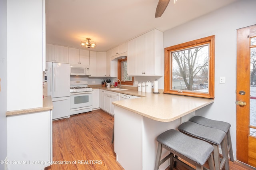
[[[7,111],[6,116],[19,115],[19,114],[24,114],[24,113],[32,113],[32,112],[38,112],[38,111],[47,111],[47,110],[51,110],[51,109],[53,109],[52,97],[46,96],[43,99],[43,107],[17,110],[17,111]]]

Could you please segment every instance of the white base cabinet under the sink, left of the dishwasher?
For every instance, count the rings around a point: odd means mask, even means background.
[[[104,91],[104,111],[114,115],[113,101],[119,101],[119,94],[116,92]]]

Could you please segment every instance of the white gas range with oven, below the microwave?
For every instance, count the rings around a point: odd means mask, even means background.
[[[92,88],[87,81],[70,81],[70,115],[92,111]]]

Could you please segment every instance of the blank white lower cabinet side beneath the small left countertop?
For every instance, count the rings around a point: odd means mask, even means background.
[[[42,170],[52,162],[52,110],[7,117],[8,170]]]

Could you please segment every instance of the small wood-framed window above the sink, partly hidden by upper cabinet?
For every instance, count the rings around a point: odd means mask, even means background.
[[[125,59],[118,59],[117,76],[122,85],[133,85],[133,77],[127,75],[127,57]]]

